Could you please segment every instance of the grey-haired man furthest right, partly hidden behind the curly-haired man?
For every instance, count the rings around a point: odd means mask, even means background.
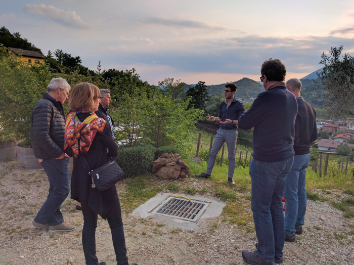
[[[316,112],[300,96],[301,81],[289,79],[286,88],[294,94],[298,111],[295,121],[294,163],[285,184],[285,241],[295,241],[295,233],[302,233],[306,211],[306,168],[309,165],[309,149],[317,139]]]

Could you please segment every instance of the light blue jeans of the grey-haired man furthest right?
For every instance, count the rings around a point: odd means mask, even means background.
[[[310,154],[295,155],[291,171],[286,179],[285,198],[285,234],[296,232],[295,226],[303,226],[306,212],[306,168]]]

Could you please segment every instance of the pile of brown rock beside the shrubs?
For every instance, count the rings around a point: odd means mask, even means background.
[[[152,171],[157,172],[158,177],[163,180],[175,180],[179,176],[186,178],[191,173],[182,156],[167,153],[163,153],[152,163]]]

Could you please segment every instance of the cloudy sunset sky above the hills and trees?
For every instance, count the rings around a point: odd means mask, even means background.
[[[90,69],[99,61],[134,67],[151,84],[258,81],[269,58],[283,61],[287,79],[301,78],[339,45],[354,57],[352,0],[0,0],[0,7],[0,26],[45,55],[62,49]]]

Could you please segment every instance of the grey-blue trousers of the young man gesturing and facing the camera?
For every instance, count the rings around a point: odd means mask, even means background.
[[[214,139],[214,143],[212,144],[212,148],[209,154],[208,167],[206,172],[208,175],[211,175],[212,168],[214,167],[216,155],[223,147],[224,143],[228,146],[229,153],[229,178],[234,176],[235,172],[235,149],[236,149],[236,141],[237,141],[237,130],[225,130],[219,128],[216,132],[216,136]]]

